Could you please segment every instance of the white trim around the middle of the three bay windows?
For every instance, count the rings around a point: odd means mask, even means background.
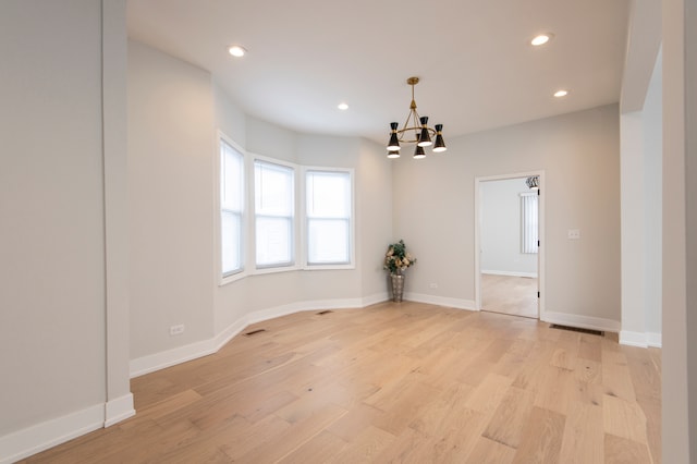
[[[280,266],[257,266],[256,262],[256,256],[257,256],[257,244],[256,244],[256,197],[255,197],[255,173],[254,173],[254,166],[256,161],[264,161],[264,162],[268,162],[271,164],[278,164],[278,166],[283,166],[286,168],[291,168],[293,170],[293,198],[294,198],[294,204],[293,206],[295,207],[295,213],[293,216],[293,243],[291,244],[291,246],[293,247],[292,254],[293,254],[293,262],[289,264],[289,265],[280,265]],[[298,217],[302,219],[302,216],[298,213],[301,211],[299,209],[299,197],[301,195],[298,195],[298,193],[301,192],[301,182],[298,182],[298,176],[299,176],[299,172],[302,170],[302,167],[298,164],[295,164],[293,162],[289,162],[289,161],[284,161],[278,158],[271,158],[271,157],[266,157],[266,156],[261,156],[261,155],[256,155],[256,154],[252,154],[252,162],[250,162],[250,167],[249,167],[249,178],[247,178],[249,180],[249,182],[247,182],[247,192],[249,192],[249,218],[252,218],[249,220],[249,240],[247,241],[249,246],[248,246],[248,264],[250,264],[249,269],[252,269],[252,274],[254,276],[258,276],[258,274],[265,274],[265,273],[276,273],[276,272],[290,272],[290,271],[296,271],[296,270],[301,270],[302,266],[301,266],[301,247],[299,247],[299,242],[301,242],[301,229],[299,229],[299,222],[302,222],[301,220],[298,220]]]

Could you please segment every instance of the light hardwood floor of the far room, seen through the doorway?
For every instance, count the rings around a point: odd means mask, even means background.
[[[537,279],[482,273],[481,309],[537,319]]]

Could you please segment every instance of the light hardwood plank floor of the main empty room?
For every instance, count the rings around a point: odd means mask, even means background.
[[[417,303],[299,313],[133,379],[30,463],[659,463],[660,350]]]

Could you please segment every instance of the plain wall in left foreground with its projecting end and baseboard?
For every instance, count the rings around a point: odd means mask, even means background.
[[[132,412],[114,255],[125,243],[125,107],[111,106],[125,100],[125,2],[3,1],[0,56],[0,462],[9,462]],[[123,408],[110,417],[111,400]]]

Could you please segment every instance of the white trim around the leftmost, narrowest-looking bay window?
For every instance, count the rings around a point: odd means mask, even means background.
[[[248,182],[248,167],[249,167],[249,156],[246,152],[246,150],[244,148],[242,148],[239,144],[236,144],[234,141],[232,141],[230,137],[228,137],[222,131],[218,131],[218,137],[216,139],[216,146],[218,148],[218,162],[216,162],[216,167],[215,167],[215,176],[216,176],[216,196],[215,196],[215,202],[213,202],[213,208],[216,210],[216,213],[213,215],[215,217],[215,228],[216,228],[216,246],[215,246],[215,253],[216,253],[216,276],[218,276],[218,286],[223,286],[227,285],[228,283],[231,282],[235,282],[237,280],[242,280],[245,277],[247,277],[249,274],[248,269],[248,255],[249,255],[249,247],[248,247],[248,242],[249,242],[249,228],[248,228],[248,217],[249,213],[247,212],[248,209],[248,205],[249,205],[249,182]],[[243,162],[244,162],[244,181],[245,181],[245,190],[244,190],[244,210],[242,212],[242,269],[239,271],[235,271],[233,273],[230,273],[228,276],[223,276],[222,273],[222,237],[221,237],[221,218],[220,218],[220,213],[221,213],[221,209],[222,206],[220,204],[220,190],[222,187],[221,185],[221,159],[220,159],[220,151],[221,151],[221,141],[224,141],[227,144],[229,144],[231,147],[233,147],[235,150],[237,150],[240,154],[242,154],[243,156]]]

